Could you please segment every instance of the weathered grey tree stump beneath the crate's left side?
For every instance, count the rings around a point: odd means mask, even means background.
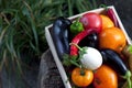
[[[50,50],[41,57],[37,88],[65,88]]]

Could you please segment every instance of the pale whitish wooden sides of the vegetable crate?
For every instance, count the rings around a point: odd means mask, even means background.
[[[119,22],[119,28],[123,31],[123,33],[124,33],[124,35],[125,35],[125,37],[127,37],[128,44],[131,44],[131,40],[130,40],[127,31],[124,30],[124,26],[123,26],[123,24],[122,24],[122,22],[121,22],[121,20],[120,20],[120,18],[119,18],[117,11],[116,11],[116,8],[114,8],[113,6],[110,6],[110,7],[108,7],[108,8],[111,8],[111,9],[113,10],[113,12],[114,12],[114,14],[116,14],[116,16],[117,16],[117,19],[118,19],[118,22]],[[69,19],[69,20],[74,20],[74,19],[76,19],[76,18],[78,18],[78,16],[81,16],[81,15],[85,14],[85,13],[88,13],[88,12],[103,13],[103,12],[105,12],[105,8],[99,8],[99,9],[95,9],[95,10],[91,10],[91,11],[86,11],[86,12],[84,12],[84,13],[80,13],[80,14],[77,14],[77,15],[74,15],[74,16],[69,16],[68,19]],[[67,74],[66,74],[66,72],[65,72],[65,68],[64,68],[62,62],[59,61],[59,58],[58,58],[58,56],[57,56],[57,53],[56,53],[56,50],[55,50],[55,46],[54,46],[54,43],[53,43],[51,33],[50,33],[50,29],[51,29],[52,26],[53,26],[53,24],[51,24],[51,25],[48,25],[48,26],[45,28],[45,36],[46,36],[48,46],[50,46],[50,48],[51,48],[51,52],[52,52],[52,54],[53,54],[54,61],[55,61],[55,63],[56,63],[56,66],[57,66],[57,68],[58,68],[58,70],[59,70],[59,74],[61,74],[61,77],[62,77],[62,79],[63,79],[63,82],[64,82],[64,85],[65,85],[65,88],[72,88],[72,85],[70,85],[70,81],[68,80],[68,77],[67,77]]]

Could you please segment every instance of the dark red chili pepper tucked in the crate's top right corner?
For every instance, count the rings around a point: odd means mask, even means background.
[[[113,12],[112,9],[107,8],[107,15],[113,21],[114,26],[118,26],[118,28],[119,28],[118,19],[116,18],[116,14],[114,14],[114,12]]]

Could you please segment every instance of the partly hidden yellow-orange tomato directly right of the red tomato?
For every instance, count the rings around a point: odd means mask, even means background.
[[[102,19],[102,30],[107,28],[112,28],[114,26],[114,23],[111,21],[111,19],[105,14],[100,14]]]

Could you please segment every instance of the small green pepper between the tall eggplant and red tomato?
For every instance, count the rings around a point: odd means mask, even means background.
[[[84,31],[82,23],[79,22],[79,18],[70,25],[70,32],[76,35],[79,32]]]

